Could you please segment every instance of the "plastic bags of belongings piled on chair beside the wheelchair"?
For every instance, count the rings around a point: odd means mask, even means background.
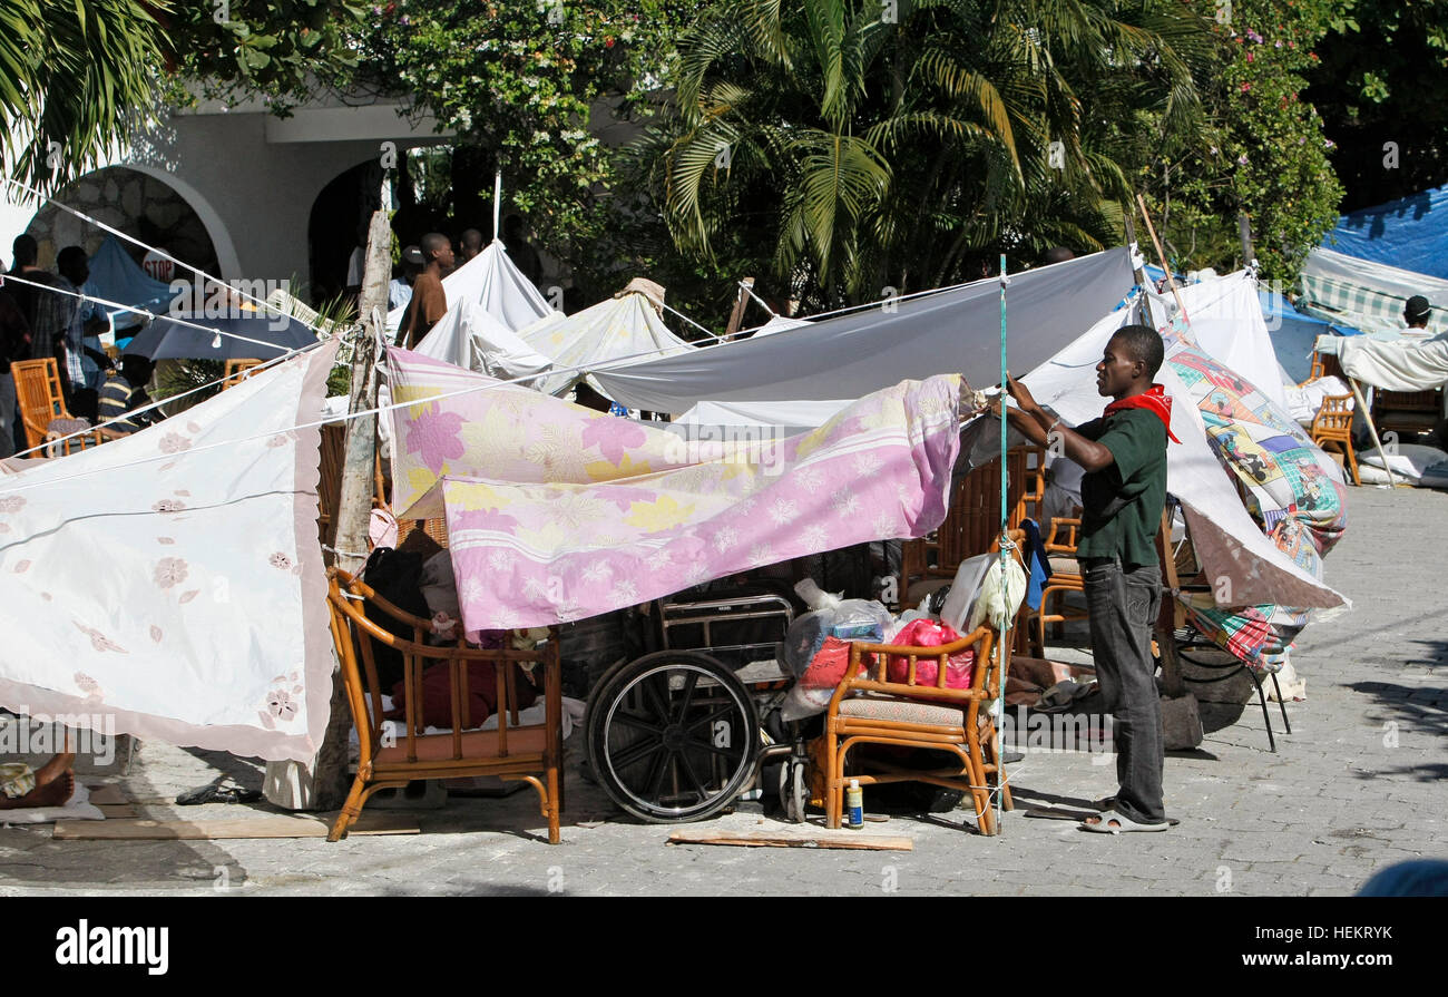
[[[791,623],[780,649],[780,661],[795,675],[795,685],[780,707],[780,716],[785,720],[799,720],[822,713],[830,706],[835,688],[850,677],[850,645],[938,648],[960,641],[982,625],[999,630],[1021,607],[1025,590],[1027,577],[1021,565],[1008,558],[1002,575],[999,554],[983,554],[964,561],[938,612],[931,612],[933,600],[927,597],[917,609],[895,616],[877,601],[840,598],[821,591],[809,578],[801,581],[795,585],[795,593],[809,612]],[[940,603],[938,597],[934,603]],[[863,656],[857,674],[875,664],[873,655]],[[970,688],[975,665],[973,648],[950,655],[946,664],[946,688]],[[886,662],[889,681],[905,681],[906,671],[904,655],[892,655]],[[940,678],[935,662],[918,662],[915,678],[921,685],[934,685]]]

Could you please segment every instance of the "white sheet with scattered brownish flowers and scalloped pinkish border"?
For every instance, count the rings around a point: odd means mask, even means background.
[[[4,461],[0,703],[265,759],[321,745],[316,423],[336,345],[151,429]]]

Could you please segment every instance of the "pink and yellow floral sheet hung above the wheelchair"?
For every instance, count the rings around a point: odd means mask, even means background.
[[[394,509],[446,514],[469,632],[546,626],[946,516],[961,378],[904,381],[809,433],[683,441],[388,351]]]

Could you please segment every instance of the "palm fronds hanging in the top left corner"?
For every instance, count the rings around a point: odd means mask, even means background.
[[[54,188],[153,106],[165,0],[6,0],[0,6],[0,165]]]

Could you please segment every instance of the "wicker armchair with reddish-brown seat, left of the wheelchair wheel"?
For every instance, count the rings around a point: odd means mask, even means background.
[[[327,840],[346,836],[368,797],[376,790],[403,787],[413,780],[497,775],[523,780],[537,790],[547,819],[549,843],[559,843],[559,814],[563,810],[563,701],[557,642],[539,651],[481,649],[459,641],[450,646],[424,643],[432,622],[407,613],[381,598],[366,584],[333,568],[327,600],[332,609],[332,638],[342,661],[348,706],[356,723],[359,756],[352,791],[332,826]],[[413,627],[407,638],[390,633],[368,619],[363,607],[375,607]],[[371,639],[369,639],[371,638]],[[382,719],[382,690],[378,683],[372,642],[403,655],[407,720],[392,735]],[[497,671],[497,730],[469,730],[466,716],[468,665],[491,662]],[[544,722],[520,726],[514,662],[537,661],[543,675]],[[452,680],[452,730],[423,733],[423,669],[447,662]],[[369,709],[371,707],[371,709]]]

